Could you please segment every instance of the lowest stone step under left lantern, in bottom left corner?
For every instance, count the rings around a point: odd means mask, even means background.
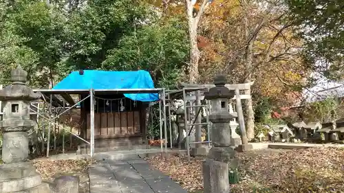
[[[0,181],[0,192],[10,193],[28,190],[36,186],[41,185],[42,178],[40,174],[34,174],[29,177],[23,177],[21,179],[9,179],[7,181]]]

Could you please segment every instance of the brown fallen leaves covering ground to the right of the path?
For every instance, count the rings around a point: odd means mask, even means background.
[[[254,150],[238,153],[241,181],[231,185],[232,192],[297,193],[300,186],[307,191],[327,192],[344,190],[344,150],[342,148],[309,148],[301,150]],[[183,188],[202,190],[202,161],[204,158],[150,157],[147,161]],[[326,190],[325,190],[325,189]]]

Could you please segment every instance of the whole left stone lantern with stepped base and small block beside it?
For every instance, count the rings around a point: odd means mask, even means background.
[[[0,128],[3,133],[2,159],[5,164],[0,165],[1,193],[77,193],[78,188],[71,191],[52,189],[42,178],[36,168],[28,161],[29,135],[28,130],[35,126],[30,120],[30,102],[41,97],[25,85],[28,73],[17,67],[11,72],[11,82],[0,90],[0,100],[3,102],[3,122]],[[68,179],[62,185],[65,187]],[[73,179],[75,181],[75,179]],[[68,189],[70,190],[70,188]]]

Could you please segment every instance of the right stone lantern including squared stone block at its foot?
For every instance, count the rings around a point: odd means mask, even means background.
[[[228,109],[228,100],[233,98],[234,92],[224,87],[226,77],[216,76],[215,87],[205,93],[205,99],[211,100],[211,141],[213,147],[208,158],[203,163],[204,193],[228,193],[228,170],[232,167],[235,150],[230,147],[230,120],[232,116]]]

